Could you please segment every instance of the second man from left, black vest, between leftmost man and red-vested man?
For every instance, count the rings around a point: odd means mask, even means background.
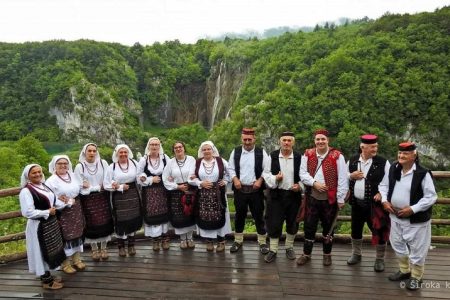
[[[292,132],[280,136],[280,149],[269,157],[264,180],[270,188],[267,201],[267,232],[270,237],[270,251],[264,257],[268,263],[277,257],[278,243],[286,221],[286,257],[295,259],[294,239],[298,231],[297,212],[301,202],[300,162],[301,155],[293,150],[295,144]]]

